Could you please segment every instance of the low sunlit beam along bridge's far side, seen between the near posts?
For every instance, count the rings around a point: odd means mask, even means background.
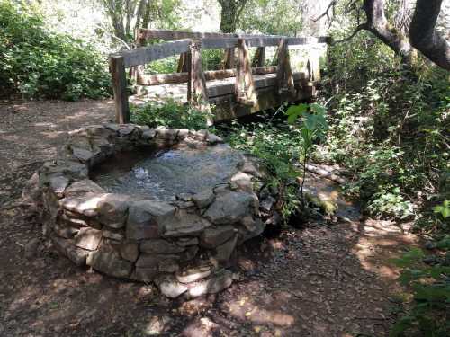
[[[186,55],[187,61],[187,55]],[[187,63],[187,62],[186,62]],[[275,74],[276,67],[254,67],[252,68],[252,74],[265,75]],[[209,70],[204,72],[204,78],[206,81],[221,80],[224,78],[236,76],[236,69],[222,69],[222,70]],[[138,78],[138,85],[161,85],[161,84],[178,84],[185,83],[189,80],[188,72],[183,73],[170,73],[170,74],[156,74],[156,75],[142,75]]]

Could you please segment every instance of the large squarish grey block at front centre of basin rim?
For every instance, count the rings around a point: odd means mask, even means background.
[[[131,204],[127,222],[127,237],[133,240],[159,237],[158,223],[173,218],[175,208],[164,202],[135,201]]]

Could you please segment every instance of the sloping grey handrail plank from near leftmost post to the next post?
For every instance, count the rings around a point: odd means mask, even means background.
[[[184,53],[188,50],[190,43],[191,40],[176,40],[139,49],[123,50],[112,54],[112,56],[122,56],[125,67],[139,66],[157,59]]]

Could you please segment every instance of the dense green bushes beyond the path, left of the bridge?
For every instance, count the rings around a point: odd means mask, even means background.
[[[0,92],[26,98],[110,94],[106,63],[93,46],[46,29],[38,13],[0,0]]]

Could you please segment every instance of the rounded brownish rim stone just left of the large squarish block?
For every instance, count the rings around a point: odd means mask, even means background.
[[[108,193],[98,203],[98,216],[103,225],[111,228],[121,228],[125,226],[130,207],[130,197]]]

